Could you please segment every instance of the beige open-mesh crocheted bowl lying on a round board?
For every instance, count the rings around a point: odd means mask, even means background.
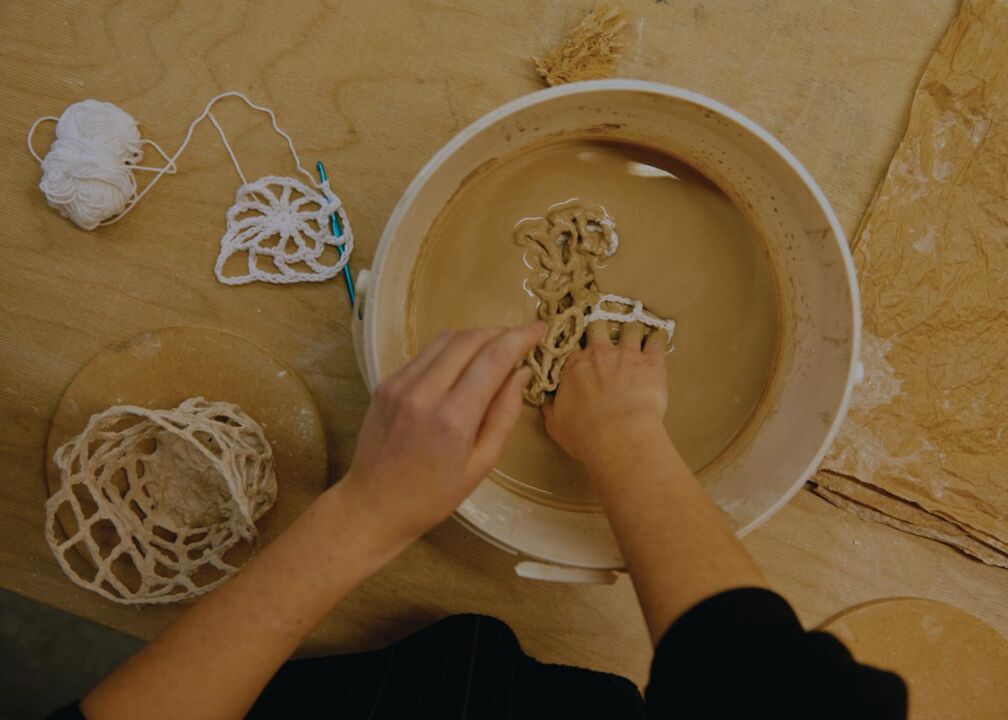
[[[237,405],[92,415],[53,460],[45,539],[78,585],[124,604],[201,595],[248,559],[276,500],[273,452]]]

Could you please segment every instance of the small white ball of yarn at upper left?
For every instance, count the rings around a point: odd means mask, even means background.
[[[42,158],[39,189],[85,230],[118,215],[136,192],[129,165],[142,155],[136,120],[112,103],[84,100],[64,111]]]

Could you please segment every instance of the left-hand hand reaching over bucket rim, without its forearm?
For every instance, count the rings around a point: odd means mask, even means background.
[[[493,468],[531,376],[515,364],[543,331],[443,333],[375,390],[339,486],[396,542],[448,517]]]

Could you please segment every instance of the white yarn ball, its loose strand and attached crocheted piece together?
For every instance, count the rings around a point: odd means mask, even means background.
[[[224,129],[211,114],[224,98],[235,97],[253,110],[269,116],[273,130],[287,143],[298,171],[308,184],[294,177],[268,175],[249,183],[238,164]],[[157,143],[140,137],[136,121],[125,111],[96,100],[71,105],[62,116],[38,118],[28,131],[28,150],[39,161],[39,188],[50,206],[85,230],[112,225],[124,218],[165,173],[175,172],[175,160],[188,146],[193,132],[209,118],[231,158],[242,186],[227,214],[227,230],[221,237],[221,251],[215,266],[218,280],[244,284],[254,280],[273,283],[321,281],[342,272],[354,248],[353,230],[340,198],[329,182],[317,183],[301,165],[293,140],[280,129],[269,108],[256,105],[245,95],[226,92],[213,98],[192,123],[178,149],[168,157]],[[56,140],[44,158],[31,144],[42,122],[56,121]],[[152,145],[165,164],[138,165],[143,145]],[[133,170],[155,172],[137,192]],[[336,238],[328,221],[336,213],[343,234]],[[242,216],[239,218],[239,216]],[[324,261],[327,249],[334,262]],[[342,256],[337,249],[342,249]],[[235,254],[246,254],[244,274],[226,275],[225,263]],[[339,257],[338,257],[339,256]]]

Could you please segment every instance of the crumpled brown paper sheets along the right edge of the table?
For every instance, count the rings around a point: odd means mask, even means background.
[[[966,0],[854,244],[865,381],[813,478],[1008,568],[1008,2]]]

